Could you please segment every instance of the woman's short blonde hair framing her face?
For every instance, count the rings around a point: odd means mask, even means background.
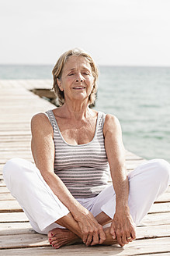
[[[98,67],[96,66],[94,60],[92,59],[92,57],[90,55],[88,55],[88,53],[84,52],[82,49],[79,48],[74,48],[69,50],[68,52],[64,52],[64,54],[61,55],[61,57],[57,60],[56,65],[54,66],[54,69],[52,71],[53,74],[53,79],[54,79],[54,84],[53,84],[53,88],[55,94],[57,94],[57,98],[58,98],[58,103],[59,105],[63,105],[64,104],[64,92],[60,90],[60,88],[58,87],[57,84],[57,79],[61,79],[62,76],[62,71],[64,68],[64,64],[68,61],[68,58],[72,55],[75,56],[83,56],[85,59],[88,60],[91,68],[92,68],[92,76],[94,77],[94,85],[92,88],[92,93],[89,95],[88,98],[88,105],[92,105],[95,102],[95,98],[96,98],[96,92],[97,92],[97,79],[99,76],[99,70]]]

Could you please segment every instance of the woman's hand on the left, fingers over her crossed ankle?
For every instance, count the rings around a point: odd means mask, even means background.
[[[102,244],[106,240],[106,235],[102,226],[87,209],[81,209],[81,212],[78,213],[77,217],[74,216],[74,218],[82,231],[82,240],[84,244],[87,246]]]

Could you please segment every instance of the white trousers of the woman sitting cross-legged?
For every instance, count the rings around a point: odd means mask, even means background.
[[[37,233],[47,234],[49,230],[61,227],[55,222],[68,215],[68,208],[43,180],[35,165],[22,158],[12,158],[4,166],[3,176],[6,186],[19,201]],[[130,172],[128,179],[130,214],[137,226],[156,198],[167,189],[170,182],[170,165],[165,160],[153,159]],[[113,185],[106,187],[96,197],[76,199],[94,216],[105,212],[113,219],[116,208]]]

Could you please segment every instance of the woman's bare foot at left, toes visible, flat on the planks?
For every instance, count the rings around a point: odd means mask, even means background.
[[[56,228],[49,231],[48,240],[55,249],[58,249],[65,244],[74,244],[80,241],[80,238],[68,229]]]

